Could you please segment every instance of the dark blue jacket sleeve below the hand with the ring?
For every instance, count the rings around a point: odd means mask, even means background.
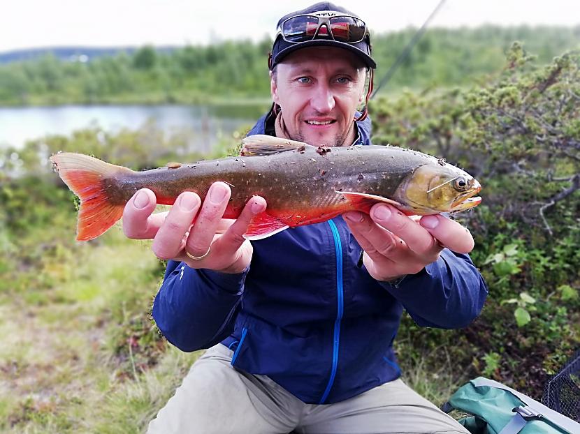
[[[208,348],[231,334],[247,269],[225,274],[169,261],[153,303],[157,327],[182,351]]]

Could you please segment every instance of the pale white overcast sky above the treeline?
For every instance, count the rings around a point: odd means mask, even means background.
[[[282,15],[315,1],[6,1],[0,14],[0,52],[70,45],[197,45],[228,39],[273,38]],[[359,15],[371,32],[383,33],[421,26],[440,0],[335,3]],[[580,25],[580,1],[446,0],[430,26],[472,27],[486,23]]]

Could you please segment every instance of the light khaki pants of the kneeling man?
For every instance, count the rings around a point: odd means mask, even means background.
[[[402,380],[340,403],[305,404],[265,375],[232,368],[232,355],[222,344],[206,351],[147,433],[469,434]]]

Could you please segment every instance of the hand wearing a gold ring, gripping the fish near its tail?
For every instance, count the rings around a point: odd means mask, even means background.
[[[237,220],[226,220],[222,216],[230,196],[227,184],[215,182],[203,205],[196,193],[186,191],[177,197],[170,211],[152,214],[157,198],[143,188],[125,206],[123,232],[132,239],[153,239],[153,253],[160,259],[182,261],[191,268],[240,273],[249,265],[254,251],[243,235],[252,217],[266,209],[266,200],[254,196]],[[203,259],[191,259],[186,251]]]

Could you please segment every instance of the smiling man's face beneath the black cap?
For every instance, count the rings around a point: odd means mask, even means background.
[[[349,146],[356,107],[363,98],[363,63],[338,47],[307,47],[288,55],[271,81],[272,98],[293,140]]]

